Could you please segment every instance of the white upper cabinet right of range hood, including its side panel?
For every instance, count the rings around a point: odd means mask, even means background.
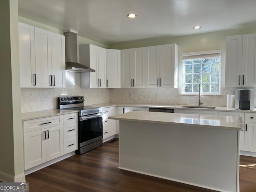
[[[88,66],[95,72],[81,73],[81,79],[90,75],[90,88],[106,88],[106,49],[92,44],[79,46],[80,64]],[[82,88],[88,88],[86,82],[81,81]]]

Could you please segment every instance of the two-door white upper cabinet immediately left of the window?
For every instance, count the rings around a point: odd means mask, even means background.
[[[146,47],[146,87],[177,87],[178,45]]]

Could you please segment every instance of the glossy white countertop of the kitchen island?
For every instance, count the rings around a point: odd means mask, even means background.
[[[133,111],[108,117],[114,120],[138,121],[160,124],[177,124],[183,126],[202,126],[230,130],[244,130],[241,117],[212,116],[197,114],[177,114],[162,112]]]

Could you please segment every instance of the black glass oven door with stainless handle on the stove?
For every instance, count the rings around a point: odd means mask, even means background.
[[[102,114],[81,116],[78,126],[79,147],[99,141],[102,136]]]

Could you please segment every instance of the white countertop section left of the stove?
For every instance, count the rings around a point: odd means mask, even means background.
[[[78,110],[53,109],[53,110],[45,110],[45,111],[28,112],[28,113],[21,114],[21,120],[25,121],[30,119],[37,119],[37,118],[43,118],[43,117],[49,117],[49,116],[55,116],[55,115],[63,115],[63,114],[69,114],[69,113],[75,113],[75,112],[78,112]]]

